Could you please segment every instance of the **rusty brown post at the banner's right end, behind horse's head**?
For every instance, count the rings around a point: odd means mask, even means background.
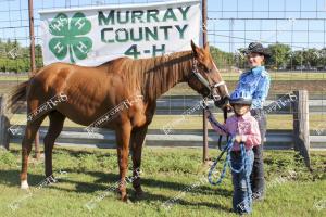
[[[208,42],[208,1],[202,0],[202,42],[203,46]],[[203,125],[203,154],[202,162],[205,163],[209,159],[209,130],[208,130],[208,118],[205,115],[205,110],[202,110],[202,125]]]

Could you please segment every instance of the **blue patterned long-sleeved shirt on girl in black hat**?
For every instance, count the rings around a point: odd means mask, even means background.
[[[265,67],[258,66],[240,75],[236,90],[250,92],[252,97],[251,110],[263,108],[268,95],[269,84],[271,77]]]

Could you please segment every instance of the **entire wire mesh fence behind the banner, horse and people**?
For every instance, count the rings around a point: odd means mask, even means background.
[[[86,5],[150,3],[124,0],[34,0],[36,62],[42,65],[38,11]],[[162,1],[161,1],[162,2]],[[163,1],[164,2],[164,1]],[[0,71],[29,71],[28,2],[0,1]],[[229,90],[241,72],[248,69],[242,49],[252,41],[268,47],[272,58],[265,66],[272,77],[266,105],[293,90],[310,93],[310,123],[314,133],[323,133],[325,120],[326,2],[322,0],[209,0],[208,36],[211,53]],[[8,78],[16,82],[18,76]],[[8,82],[7,82],[8,85]],[[181,114],[199,99],[186,84],[172,89],[159,101],[159,114]],[[160,103],[162,110],[160,110]],[[283,103],[284,104],[284,103]],[[200,114],[198,112],[197,114]],[[292,111],[278,105],[268,116],[268,129],[292,129]],[[202,125],[199,122],[198,128]],[[326,130],[325,130],[326,131]]]

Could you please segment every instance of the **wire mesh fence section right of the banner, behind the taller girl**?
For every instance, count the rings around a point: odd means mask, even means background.
[[[325,128],[325,28],[326,2],[321,0],[218,0],[209,1],[209,41],[216,48],[218,66],[229,89],[248,69],[242,50],[259,41],[268,47],[265,62],[271,75],[267,105],[277,102],[268,115],[268,129],[292,129],[292,110],[281,99],[293,90],[310,94],[311,135]]]

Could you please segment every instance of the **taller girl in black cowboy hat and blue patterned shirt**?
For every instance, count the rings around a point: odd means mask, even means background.
[[[259,42],[252,42],[244,50],[250,71],[241,74],[236,91],[249,92],[252,97],[251,115],[259,123],[261,132],[261,145],[253,148],[254,162],[251,174],[251,187],[253,200],[263,200],[265,179],[263,167],[263,144],[266,135],[266,116],[263,111],[264,102],[268,95],[271,78],[265,67],[262,66],[264,60],[269,58],[269,51]]]

